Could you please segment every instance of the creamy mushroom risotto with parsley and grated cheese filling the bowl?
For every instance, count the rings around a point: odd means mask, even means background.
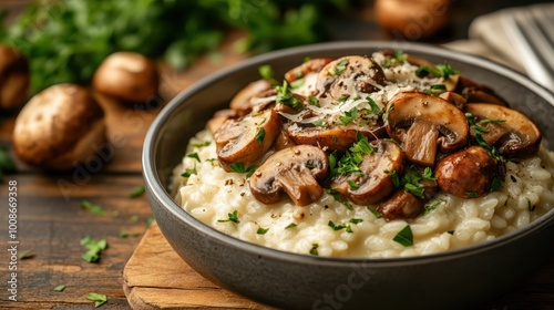
[[[239,239],[332,257],[428,255],[554,204],[554,154],[491,89],[402,53],[261,66],[187,146],[177,203]]]

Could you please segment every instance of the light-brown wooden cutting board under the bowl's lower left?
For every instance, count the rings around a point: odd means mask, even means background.
[[[194,271],[153,224],[123,270],[133,309],[271,309],[225,290]]]

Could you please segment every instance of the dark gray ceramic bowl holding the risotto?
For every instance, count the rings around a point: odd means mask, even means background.
[[[412,258],[337,259],[238,240],[196,220],[174,203],[167,188],[188,138],[213,112],[227,106],[233,94],[259,78],[259,65],[270,64],[276,76],[281,76],[305,56],[338,58],[382,49],[401,49],[434,63],[450,62],[530,115],[544,140],[554,145],[553,94],[480,58],[394,42],[327,43],[255,56],[177,95],[146,136],[143,168],[152,211],[168,242],[191,267],[217,285],[286,309],[465,309],[499,297],[552,257],[554,210],[524,229],[460,250]]]

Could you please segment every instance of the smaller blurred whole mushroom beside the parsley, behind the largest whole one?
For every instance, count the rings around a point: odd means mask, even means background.
[[[155,63],[135,52],[109,55],[92,80],[99,93],[133,103],[145,103],[155,96],[158,83]]]

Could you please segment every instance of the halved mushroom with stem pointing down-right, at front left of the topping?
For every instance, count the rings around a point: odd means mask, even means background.
[[[250,176],[254,197],[273,204],[286,193],[298,206],[306,206],[321,197],[318,182],[329,172],[327,155],[321,148],[296,145],[271,154]]]

